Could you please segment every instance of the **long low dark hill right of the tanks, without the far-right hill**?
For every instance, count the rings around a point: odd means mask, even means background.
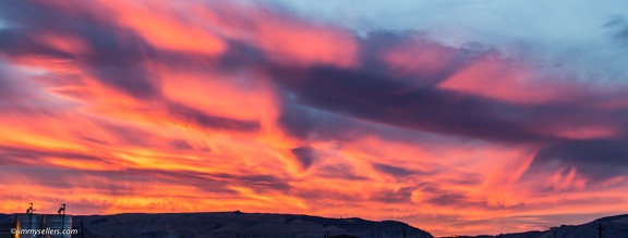
[[[408,238],[433,237],[426,231],[392,221],[241,212],[74,216],[73,226],[80,227],[81,223],[85,228],[85,237],[106,238],[323,238],[340,235],[396,238],[403,237],[403,230]]]

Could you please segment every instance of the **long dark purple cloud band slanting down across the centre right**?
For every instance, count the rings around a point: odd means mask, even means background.
[[[282,78],[295,74],[283,72]],[[299,74],[297,74],[299,75]],[[416,130],[468,135],[493,140],[534,140],[523,124],[524,108],[437,88],[411,85],[362,71],[313,67],[298,79],[280,84],[299,103]]]

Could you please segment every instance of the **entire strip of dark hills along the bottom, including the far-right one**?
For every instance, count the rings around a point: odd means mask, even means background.
[[[293,214],[242,212],[117,214],[73,216],[73,227],[84,238],[407,238],[433,237],[404,223],[372,222],[362,218],[325,218]],[[11,237],[12,216],[0,214],[0,237]],[[602,227],[602,231],[599,228]],[[4,230],[7,229],[7,230]],[[7,236],[4,236],[7,235]],[[563,225],[496,236],[458,236],[460,238],[626,238],[628,214],[608,216],[582,225]]]

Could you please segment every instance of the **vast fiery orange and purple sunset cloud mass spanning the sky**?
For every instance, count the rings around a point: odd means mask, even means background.
[[[43,4],[97,33],[34,25],[25,36],[37,39],[0,46],[0,212],[243,210],[398,218],[450,235],[628,211],[626,176],[597,181],[576,159],[532,167],[554,143],[624,135],[620,90],[540,84],[491,53],[457,65],[464,50],[410,36],[371,59],[369,39],[262,7]],[[364,68],[371,61],[382,65]],[[594,100],[560,108],[578,96]],[[601,110],[560,126],[543,105]]]

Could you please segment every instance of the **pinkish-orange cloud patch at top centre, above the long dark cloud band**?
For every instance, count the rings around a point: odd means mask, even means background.
[[[216,4],[198,7],[198,21],[209,22],[225,36],[258,47],[265,57],[283,64],[357,65],[358,42],[351,33],[289,18],[262,8]]]

